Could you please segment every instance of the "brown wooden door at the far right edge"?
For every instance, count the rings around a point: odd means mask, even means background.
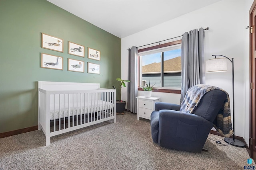
[[[256,131],[255,131],[255,65],[256,65],[256,38],[255,38],[255,20],[256,20],[256,0],[254,0],[249,12],[249,31],[250,31],[250,157],[256,161]]]

